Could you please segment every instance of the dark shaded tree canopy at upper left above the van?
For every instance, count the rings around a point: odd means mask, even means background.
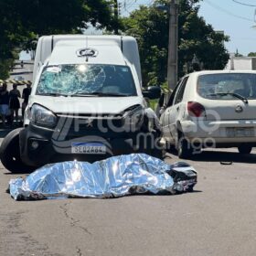
[[[38,36],[81,33],[88,23],[116,27],[112,0],[0,0],[0,78],[8,76],[16,52],[34,48]]]

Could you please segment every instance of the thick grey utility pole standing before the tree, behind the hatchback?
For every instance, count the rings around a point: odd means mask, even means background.
[[[170,90],[174,90],[177,83],[177,46],[178,46],[178,0],[170,0],[169,17],[169,45],[167,81]]]

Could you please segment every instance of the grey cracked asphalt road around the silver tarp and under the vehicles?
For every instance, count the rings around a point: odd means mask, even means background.
[[[256,152],[188,163],[198,171],[189,194],[27,202],[5,193],[16,175],[1,165],[0,255],[255,255]]]

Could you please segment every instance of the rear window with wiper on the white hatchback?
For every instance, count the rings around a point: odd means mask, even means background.
[[[211,100],[256,100],[256,74],[201,75],[197,80],[197,93]]]

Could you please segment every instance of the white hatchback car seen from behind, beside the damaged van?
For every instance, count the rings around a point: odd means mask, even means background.
[[[167,145],[187,158],[205,147],[256,145],[256,71],[199,71],[181,79],[161,115]]]

